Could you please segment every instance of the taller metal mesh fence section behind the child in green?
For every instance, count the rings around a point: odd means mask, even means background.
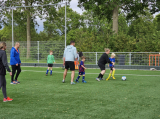
[[[6,43],[7,58],[8,62],[10,62],[10,50],[12,48],[12,42]],[[63,52],[65,48],[64,41],[32,41],[29,58],[27,58],[27,42],[21,41],[19,43],[20,59],[22,63],[46,63],[50,50],[53,51],[56,62],[62,63]]]

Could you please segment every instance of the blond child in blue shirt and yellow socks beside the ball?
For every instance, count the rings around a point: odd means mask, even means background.
[[[115,64],[115,54],[114,53],[112,53],[111,54],[111,57],[109,58],[110,59],[110,61],[111,62],[113,62],[113,64],[108,64],[108,67],[110,67],[110,74],[109,74],[109,76],[108,76],[108,78],[106,79],[106,81],[108,81],[109,80],[109,78],[111,77],[111,74],[112,74],[112,78],[113,79],[116,79],[115,77],[114,77],[114,74],[115,74],[115,68],[114,68],[114,64]]]

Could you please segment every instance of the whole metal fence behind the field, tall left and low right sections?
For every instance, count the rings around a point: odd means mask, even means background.
[[[7,43],[8,62],[12,42]],[[49,51],[53,51],[56,63],[62,63],[64,41],[32,41],[30,57],[27,58],[27,42],[20,42],[20,58],[22,63],[46,63]],[[116,54],[116,65],[138,65],[138,66],[160,66],[159,52],[114,52]],[[83,52],[86,57],[85,64],[97,64],[103,52]],[[155,56],[157,55],[157,56]],[[110,56],[110,55],[109,55]]]

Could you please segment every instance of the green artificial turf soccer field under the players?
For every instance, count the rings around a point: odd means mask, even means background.
[[[17,85],[10,84],[7,74],[7,94],[13,101],[4,103],[0,93],[0,119],[160,118],[160,71],[116,70],[116,80],[98,82],[100,70],[86,69],[87,83],[81,77],[71,85],[70,72],[62,83],[64,70],[53,68],[53,75],[45,76],[46,69],[22,67]]]

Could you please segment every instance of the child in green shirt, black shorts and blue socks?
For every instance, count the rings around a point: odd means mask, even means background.
[[[46,76],[48,75],[49,70],[50,70],[50,75],[52,75],[53,62],[55,63],[54,56],[53,56],[53,51],[50,51],[49,55],[47,57],[48,69],[47,69],[47,72],[46,72]]]

